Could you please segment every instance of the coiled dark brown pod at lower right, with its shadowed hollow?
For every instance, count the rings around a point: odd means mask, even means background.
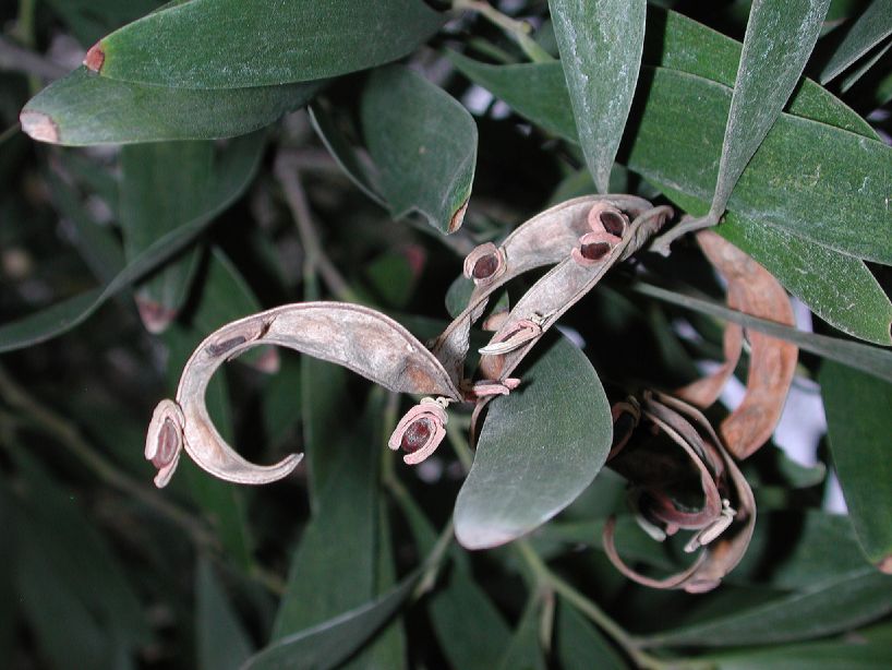
[[[749,546],[756,524],[752,490],[707,419],[687,403],[644,392],[640,403],[617,404],[613,415],[607,465],[629,480],[640,525],[660,541],[690,530],[685,551],[700,551],[686,570],[650,577],[619,558],[611,518],[603,537],[607,557],[646,586],[688,593],[715,588]]]

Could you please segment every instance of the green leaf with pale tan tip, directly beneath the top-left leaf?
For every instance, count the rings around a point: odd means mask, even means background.
[[[80,68],[28,100],[22,127],[35,140],[68,146],[232,137],[303,107],[324,84],[196,91],[121,82]]]

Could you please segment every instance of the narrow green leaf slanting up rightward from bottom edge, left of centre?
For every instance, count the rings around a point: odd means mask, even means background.
[[[421,574],[417,570],[384,596],[273,643],[251,657],[242,669],[327,670],[338,667],[399,610]]]

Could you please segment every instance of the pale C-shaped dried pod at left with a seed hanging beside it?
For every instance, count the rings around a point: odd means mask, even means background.
[[[439,361],[406,328],[374,310],[339,302],[287,304],[232,322],[198,345],[183,369],[177,399],[155,410],[146,439],[146,458],[165,486],[185,448],[212,475],[239,483],[267,483],[297,467],[292,454],[272,466],[239,456],[214,427],[205,391],[227,360],[261,346],[284,346],[339,363],[396,393],[433,394],[458,400],[460,392]]]

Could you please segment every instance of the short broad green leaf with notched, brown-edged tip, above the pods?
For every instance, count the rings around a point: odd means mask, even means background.
[[[413,70],[391,65],[370,76],[360,116],[394,218],[417,212],[442,232],[455,232],[477,165],[477,125],[468,110]]]

